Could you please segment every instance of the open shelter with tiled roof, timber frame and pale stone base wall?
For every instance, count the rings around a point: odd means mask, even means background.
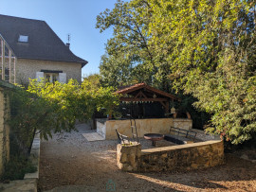
[[[189,116],[176,118],[174,108],[170,111],[170,102],[180,101],[177,96],[155,89],[146,83],[120,87],[115,93],[120,96],[119,100],[124,105],[120,106],[119,110],[128,107],[129,112],[126,113],[136,119],[138,137],[143,137],[145,133],[168,134],[171,127],[192,129],[192,119]],[[116,119],[97,118],[96,127],[97,132],[105,139],[116,139],[116,130],[132,137],[131,121],[127,116]]]

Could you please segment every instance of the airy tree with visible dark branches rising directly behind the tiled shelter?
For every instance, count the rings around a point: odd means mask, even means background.
[[[119,0],[115,9],[106,9],[97,17],[96,27],[101,32],[107,28],[114,30],[101,57],[102,81],[112,86],[144,81],[169,91],[169,64],[164,58],[155,57],[155,46],[149,44],[150,15],[139,15],[143,7],[143,4]]]

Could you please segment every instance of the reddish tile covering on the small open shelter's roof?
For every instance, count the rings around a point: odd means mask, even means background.
[[[149,85],[147,85],[146,83],[142,82],[142,83],[137,83],[135,85],[131,85],[131,86],[124,86],[119,88],[119,90],[116,92],[116,94],[132,94],[133,92],[136,92],[137,90],[140,89],[146,89],[149,90],[155,94],[158,94],[160,96],[165,96],[165,97],[169,97],[169,98],[173,98],[176,100],[181,100],[180,98],[178,98],[177,96],[174,96],[172,94],[168,94],[166,92],[163,92],[161,90],[155,89],[154,87],[151,87]]]

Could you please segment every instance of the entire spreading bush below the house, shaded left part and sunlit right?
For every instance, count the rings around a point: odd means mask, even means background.
[[[9,91],[13,140],[27,153],[36,132],[47,139],[52,132],[75,130],[77,119],[89,120],[102,108],[114,113],[119,97],[113,92],[112,87],[101,86],[99,76],[85,78],[82,85],[74,79],[66,84],[30,79],[27,90],[20,87]]]

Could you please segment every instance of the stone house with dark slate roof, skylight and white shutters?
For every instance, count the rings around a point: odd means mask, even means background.
[[[0,15],[0,35],[15,54],[17,83],[40,78],[82,81],[87,61],[74,55],[45,21]]]

